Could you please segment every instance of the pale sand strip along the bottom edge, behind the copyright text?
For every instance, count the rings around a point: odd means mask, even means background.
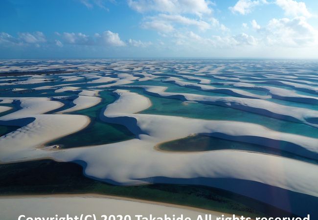
[[[199,215],[204,218],[205,214],[210,214],[211,220],[216,220],[216,217],[223,214],[167,203],[150,203],[145,200],[87,194],[0,197],[0,209],[2,220],[17,220],[20,215],[26,217],[55,217],[55,215],[66,217],[69,215],[74,217],[81,214],[95,214],[98,220],[102,215],[130,215],[132,220],[136,220],[135,215],[149,218],[150,214],[162,218],[165,214],[170,218],[173,215],[177,217],[183,215],[184,218],[189,217],[196,220]]]

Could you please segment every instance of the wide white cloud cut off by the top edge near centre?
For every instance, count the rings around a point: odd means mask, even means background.
[[[212,3],[209,0],[128,0],[128,5],[138,11],[157,11],[164,13],[210,14]]]

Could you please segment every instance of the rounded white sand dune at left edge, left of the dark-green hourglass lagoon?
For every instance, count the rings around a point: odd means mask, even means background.
[[[0,118],[1,120],[1,118]],[[22,120],[6,121],[0,124],[23,126],[0,137],[0,161],[10,162],[12,158],[27,160],[28,154],[48,141],[66,136],[85,128],[90,122],[84,115],[25,115]]]

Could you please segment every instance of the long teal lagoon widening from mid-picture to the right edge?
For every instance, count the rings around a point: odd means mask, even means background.
[[[260,124],[274,131],[290,132],[318,138],[317,128],[301,123],[279,120],[222,106],[201,103],[184,103],[178,99],[160,98],[144,93],[143,89],[135,88],[130,90],[148,97],[152,102],[152,106],[149,109],[139,113],[173,115],[204,120],[243,121]]]

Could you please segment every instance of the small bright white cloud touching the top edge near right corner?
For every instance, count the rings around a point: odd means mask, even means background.
[[[275,3],[284,10],[286,16],[312,16],[307,10],[305,2],[297,2],[295,0],[276,0]]]

